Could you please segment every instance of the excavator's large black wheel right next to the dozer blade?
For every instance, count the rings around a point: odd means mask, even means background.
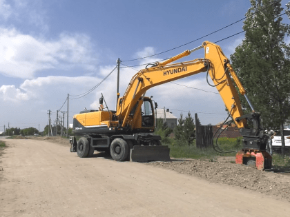
[[[110,156],[115,161],[126,161],[129,155],[129,145],[123,138],[115,138],[110,144]]]

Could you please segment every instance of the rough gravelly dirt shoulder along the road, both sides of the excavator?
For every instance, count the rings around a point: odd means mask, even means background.
[[[59,136],[32,138],[67,145],[68,147],[70,145],[67,138]],[[173,159],[171,162],[153,162],[147,165],[170,169],[189,176],[197,176],[209,180],[211,183],[223,183],[242,189],[249,189],[290,202],[290,171],[284,174],[259,171],[246,165],[229,163],[232,161],[235,161],[235,157],[221,157],[218,158],[217,162]]]

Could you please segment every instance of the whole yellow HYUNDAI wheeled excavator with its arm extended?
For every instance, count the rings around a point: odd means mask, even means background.
[[[202,48],[204,58],[173,63]],[[200,72],[207,72],[211,77],[213,86],[218,89],[243,137],[244,148],[236,155],[236,163],[252,165],[258,169],[271,168],[272,159],[266,152],[268,135],[260,127],[260,113],[255,112],[220,46],[209,41],[137,72],[124,96],[117,100],[117,111],[104,110],[104,99],[101,97],[99,110],[86,110],[75,114],[73,132],[83,137],[79,141],[74,136],[70,137],[70,152],[77,152],[81,158],[92,156],[97,150],[110,152],[115,161],[169,161],[168,146],[161,145],[160,136],[153,135],[153,101],[145,93],[151,87]],[[236,87],[246,97],[253,110],[251,114],[243,114]],[[247,121],[252,122],[252,128],[248,127]]]

